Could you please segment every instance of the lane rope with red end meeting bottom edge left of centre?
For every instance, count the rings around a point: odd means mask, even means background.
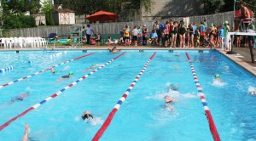
[[[140,71],[140,73],[136,76],[135,80],[131,83],[130,87],[128,87],[128,89],[125,91],[123,96],[119,99],[117,104],[114,105],[113,110],[109,113],[108,118],[106,119],[106,121],[104,121],[102,127],[97,131],[94,138],[92,138],[92,141],[97,141],[102,137],[102,134],[106,131],[110,122],[112,121],[114,114],[117,112],[117,110],[119,110],[121,104],[124,103],[125,99],[128,97],[129,93],[131,92],[131,89],[136,85],[140,76],[143,75],[144,71],[147,69],[149,65],[149,62],[154,58],[155,54],[156,53],[154,52],[154,54],[150,57],[150,59],[148,59],[148,62],[146,63],[146,65],[143,66],[143,70]]]

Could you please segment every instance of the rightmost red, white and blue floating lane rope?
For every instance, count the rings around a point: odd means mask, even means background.
[[[202,91],[202,87],[201,87],[201,85],[200,85],[200,83],[198,81],[198,78],[197,78],[197,76],[195,74],[194,66],[192,65],[192,62],[191,62],[191,60],[189,58],[189,54],[186,53],[186,55],[187,55],[187,58],[189,60],[189,65],[190,65],[190,68],[191,68],[191,71],[192,71],[192,74],[193,74],[193,77],[194,77],[195,86],[196,86],[197,91],[198,91],[198,93],[200,95],[201,104],[203,105],[205,113],[206,113],[206,116],[207,116],[209,127],[210,127],[210,130],[211,130],[211,133],[212,133],[212,137],[213,137],[214,141],[220,141],[217,128],[215,126],[215,123],[213,121],[211,112],[210,112],[210,110],[208,108],[208,105],[207,105],[207,100],[206,100],[205,95],[204,95],[204,93]]]

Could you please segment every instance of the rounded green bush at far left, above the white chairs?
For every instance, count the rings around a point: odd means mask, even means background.
[[[9,15],[3,21],[3,29],[36,27],[36,20],[27,15]]]

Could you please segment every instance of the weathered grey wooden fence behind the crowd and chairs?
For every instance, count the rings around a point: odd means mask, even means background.
[[[174,21],[180,21],[185,19],[188,23],[194,21],[197,25],[200,24],[201,21],[207,20],[207,23],[214,23],[215,25],[223,25],[224,20],[228,20],[230,23],[230,27],[233,26],[234,20],[234,12],[225,12],[219,14],[209,14],[209,15],[201,15],[201,16],[192,16],[192,17],[174,17],[170,18]],[[161,20],[161,22],[165,22],[166,20]],[[134,22],[116,22],[116,23],[100,23],[100,24],[91,24],[94,31],[99,32],[101,34],[119,34],[120,30],[125,25],[130,25],[133,27],[134,25],[147,25],[148,31],[152,30],[154,25],[154,21],[134,21]],[[58,25],[58,26],[45,26],[45,27],[35,27],[35,28],[26,28],[26,29],[14,29],[9,30],[9,37],[48,37],[49,33],[55,32],[59,37],[68,37],[71,32],[72,25]]]

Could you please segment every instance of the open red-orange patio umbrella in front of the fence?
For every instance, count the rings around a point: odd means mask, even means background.
[[[107,11],[98,11],[95,14],[90,14],[88,17],[86,17],[86,20],[90,21],[106,21],[106,20],[116,20],[117,14],[113,14],[111,12]]]

